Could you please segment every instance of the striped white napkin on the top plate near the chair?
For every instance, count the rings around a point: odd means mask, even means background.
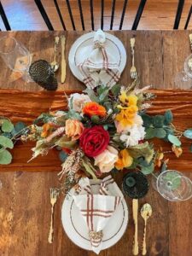
[[[93,50],[88,58],[78,65],[84,84],[90,89],[101,84],[112,87],[120,78],[118,63],[115,56],[105,48],[105,42],[105,33],[99,29],[93,40]]]

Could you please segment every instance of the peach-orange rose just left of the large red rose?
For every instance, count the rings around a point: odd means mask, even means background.
[[[67,119],[66,121],[66,135],[72,137],[72,140],[77,140],[84,131],[84,125],[75,119]]]

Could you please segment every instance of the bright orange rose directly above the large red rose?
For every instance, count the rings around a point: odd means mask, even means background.
[[[96,102],[89,102],[84,105],[83,113],[90,117],[93,115],[104,117],[106,116],[106,109]]]

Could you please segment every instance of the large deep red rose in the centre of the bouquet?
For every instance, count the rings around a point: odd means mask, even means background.
[[[86,128],[80,137],[80,147],[84,150],[84,154],[95,157],[101,154],[108,147],[109,143],[108,131],[101,125]]]

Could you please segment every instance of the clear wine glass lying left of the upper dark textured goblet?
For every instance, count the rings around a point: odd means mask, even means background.
[[[32,57],[23,44],[9,36],[0,38],[0,55],[11,70],[21,73],[27,82],[32,80],[28,75]]]

